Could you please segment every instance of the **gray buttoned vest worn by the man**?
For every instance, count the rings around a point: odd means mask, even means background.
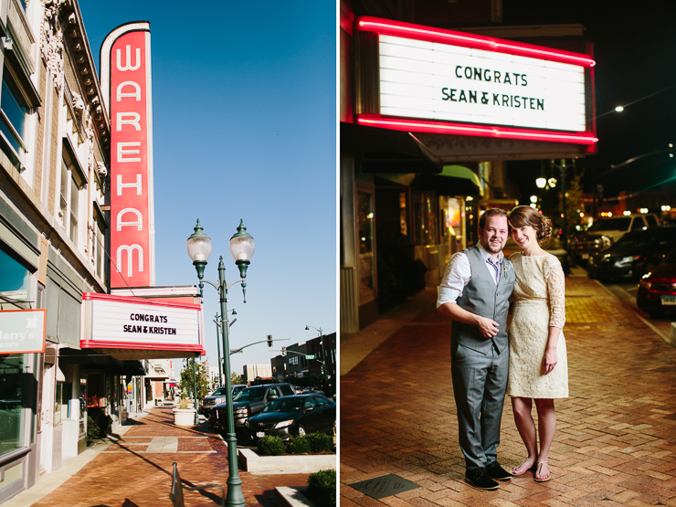
[[[471,278],[456,302],[463,310],[498,322],[500,331],[492,339],[484,338],[477,326],[453,321],[450,330],[451,343],[460,343],[481,354],[491,352],[491,345],[494,343],[502,354],[502,351],[509,345],[507,313],[510,303],[508,300],[514,288],[514,281],[516,281],[512,263],[502,258],[500,283],[496,286],[495,279],[491,278],[489,267],[486,266],[486,261],[481,257],[479,247],[475,245],[462,252],[470,259]]]

